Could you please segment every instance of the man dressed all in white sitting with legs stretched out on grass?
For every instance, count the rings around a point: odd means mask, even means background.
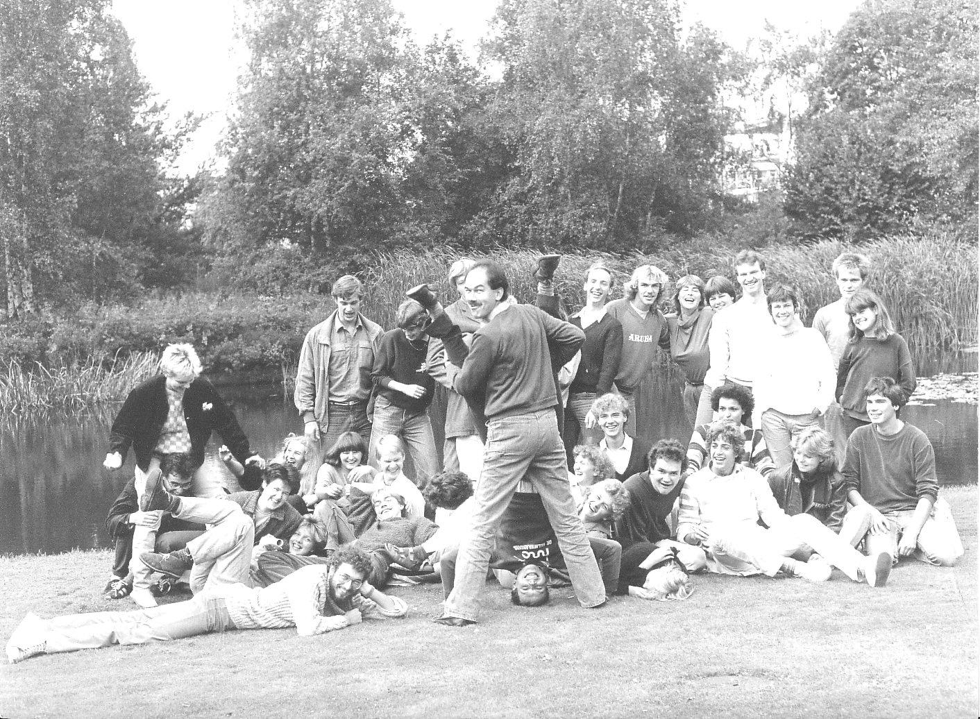
[[[704,552],[708,570],[824,582],[832,564],[856,582],[884,587],[891,557],[884,551],[865,557],[813,516],[786,514],[760,473],[739,463],[742,441],[733,422],[712,424],[711,461],[681,490],[677,537]]]

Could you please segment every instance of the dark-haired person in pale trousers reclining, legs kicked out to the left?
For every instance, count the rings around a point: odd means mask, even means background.
[[[299,486],[296,470],[270,463],[263,475],[261,491],[236,492],[217,500],[177,497],[167,492],[157,478],[148,479],[146,494],[140,500],[142,511],[163,509],[178,519],[214,526],[182,550],[147,551],[140,554],[139,560],[150,570],[172,578],[189,569],[194,594],[208,585],[247,581],[253,547],[267,536],[288,540],[301,521],[286,502]],[[235,549],[238,542],[244,549]]]

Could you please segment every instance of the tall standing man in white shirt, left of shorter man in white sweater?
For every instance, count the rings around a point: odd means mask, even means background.
[[[765,302],[765,261],[752,250],[735,256],[735,277],[742,286],[742,297],[711,324],[708,348],[711,366],[705,384],[716,389],[726,382],[740,384],[751,392],[755,386],[762,340],[772,332],[772,318]],[[742,420],[758,427],[758,418]]]

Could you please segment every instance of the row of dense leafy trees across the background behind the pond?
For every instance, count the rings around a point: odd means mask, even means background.
[[[108,8],[0,4],[9,316],[173,286],[202,262],[279,294],[395,247],[976,236],[977,21],[961,0],[868,0],[806,47],[768,27],[759,87],[677,0],[502,0],[478,61],[450,36],[418,46],[389,0],[246,0],[221,171],[192,179],[167,168],[194,120],[165,130]],[[784,196],[738,217],[726,100],[776,82],[798,162]]]

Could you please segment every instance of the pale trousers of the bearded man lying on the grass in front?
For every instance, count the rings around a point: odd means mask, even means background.
[[[142,645],[234,629],[225,599],[201,596],[135,611],[69,614],[45,622],[45,653]]]

